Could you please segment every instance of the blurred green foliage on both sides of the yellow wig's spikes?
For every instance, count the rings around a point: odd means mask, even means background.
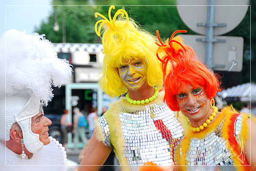
[[[186,29],[188,34],[193,34],[180,19],[176,6],[116,6],[112,10],[112,17],[120,8],[124,8],[130,18],[152,34],[156,35],[156,30],[159,30],[162,39],[170,37],[178,29]],[[100,43],[94,31],[94,24],[99,19],[94,17],[94,13],[108,16],[108,9],[109,6],[54,6],[48,21],[43,21],[35,32],[46,34],[47,39],[53,43],[61,43],[65,21],[66,42]],[[59,24],[59,31],[53,31],[55,22]]]

